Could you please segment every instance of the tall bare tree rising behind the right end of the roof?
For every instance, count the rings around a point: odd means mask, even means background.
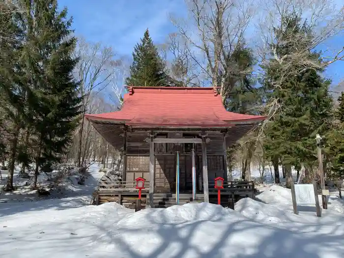
[[[220,88],[225,103],[242,70],[232,58],[245,45],[244,33],[253,16],[250,0],[186,0],[188,20],[172,18],[186,41],[189,57],[213,86]]]

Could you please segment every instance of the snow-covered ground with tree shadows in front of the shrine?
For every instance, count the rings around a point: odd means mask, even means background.
[[[95,167],[90,171],[94,179],[101,176]],[[259,201],[242,199],[235,211],[188,203],[135,213],[116,203],[85,205],[93,186],[39,201],[1,195],[7,202],[0,202],[0,257],[344,257],[344,200],[335,195],[321,218],[315,207],[299,207],[294,215],[290,190],[277,185],[261,187]]]

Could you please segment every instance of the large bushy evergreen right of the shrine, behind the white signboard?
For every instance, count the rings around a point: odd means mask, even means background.
[[[291,14],[283,28],[275,29],[280,38],[277,55],[290,55],[294,49],[304,48],[312,40],[312,31],[306,23],[300,24],[300,17]],[[284,36],[294,35],[293,44]],[[296,45],[295,45],[296,44]],[[319,55],[310,51],[304,53],[310,61],[320,62]],[[286,60],[287,62],[287,60]],[[282,158],[285,165],[298,166],[301,162],[311,165],[315,162],[315,134],[323,135],[330,126],[332,99],[328,92],[330,82],[321,78],[321,70],[304,69],[292,63],[293,76],[283,74],[281,64],[271,60],[264,67],[264,87],[269,101],[274,100],[279,110],[273,116],[265,134],[265,148],[272,160]],[[280,82],[275,86],[274,82]]]

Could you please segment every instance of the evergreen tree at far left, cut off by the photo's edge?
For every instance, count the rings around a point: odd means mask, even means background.
[[[11,1],[0,1],[0,111],[2,135],[6,133],[8,176],[4,191],[12,191],[20,129],[25,126],[26,84],[20,66],[24,42],[21,13]]]

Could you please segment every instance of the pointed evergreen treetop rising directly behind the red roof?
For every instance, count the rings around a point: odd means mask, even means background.
[[[146,29],[141,43],[134,48],[130,77],[126,79],[126,85],[171,86],[171,84],[172,80],[166,72],[165,63]]]

